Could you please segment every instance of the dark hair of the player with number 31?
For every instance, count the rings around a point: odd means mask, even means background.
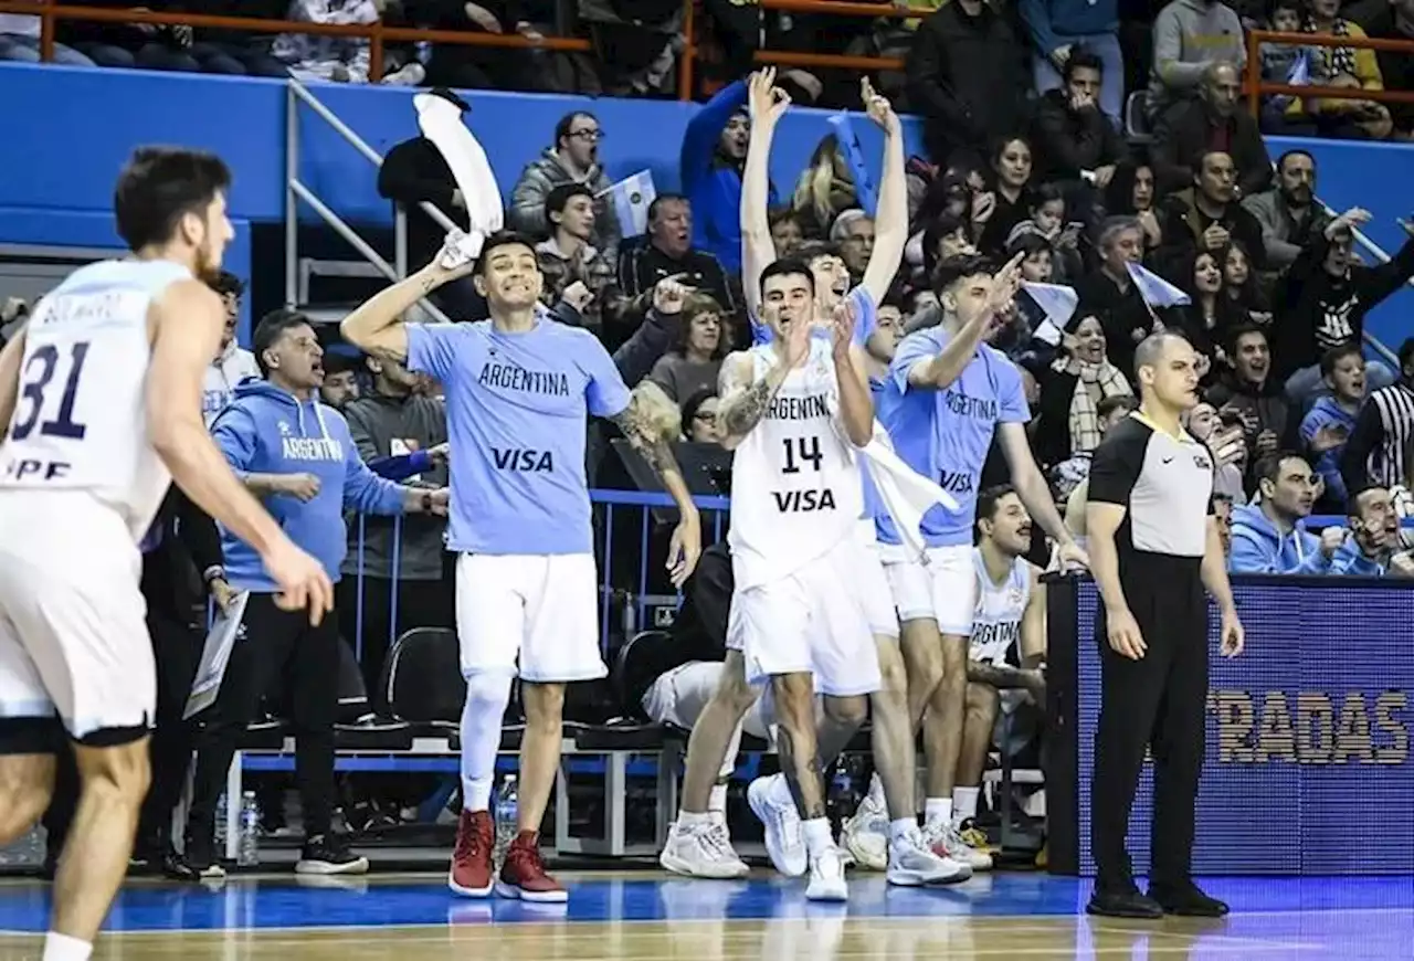
[[[229,187],[230,170],[215,154],[139,147],[113,188],[117,235],[134,252],[165,243],[182,216],[204,212]]]

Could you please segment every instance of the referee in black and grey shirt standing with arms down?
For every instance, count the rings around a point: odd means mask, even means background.
[[[1100,589],[1100,726],[1094,738],[1090,848],[1097,878],[1086,910],[1110,917],[1222,917],[1227,904],[1193,883],[1193,806],[1203,766],[1208,599],[1222,608],[1222,650],[1241,653],[1222,541],[1213,459],[1181,427],[1198,403],[1198,353],[1174,332],[1134,353],[1140,408],[1094,451],[1086,527]],[[1144,752],[1154,755],[1148,896],[1134,886],[1124,839]]]

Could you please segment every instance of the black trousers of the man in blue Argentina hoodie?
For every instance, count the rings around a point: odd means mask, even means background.
[[[328,834],[334,817],[334,721],[338,712],[339,626],[325,615],[310,626],[307,611],[281,611],[270,594],[252,594],[221,681],[216,702],[197,735],[188,837],[211,838],[226,770],[260,701],[287,692],[294,725],[294,780],[307,838]],[[239,798],[228,798],[239,804]]]

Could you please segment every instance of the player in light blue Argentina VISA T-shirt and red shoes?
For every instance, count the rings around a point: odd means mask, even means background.
[[[472,270],[489,321],[402,321],[419,298]],[[564,888],[540,861],[539,830],[560,765],[564,685],[608,673],[598,646],[585,414],[618,424],[677,503],[667,560],[676,585],[697,564],[701,521],[663,434],[663,411],[629,394],[592,334],[539,308],[542,284],[527,239],[495,233],[469,261],[454,237],[431,264],[351,314],[342,331],[375,358],[406,363],[445,389],[450,546],[461,554],[457,635],[467,677],[464,811],[448,885],[468,897],[495,888],[505,897],[563,902]],[[677,411],[667,414],[676,424]],[[518,657],[526,712],[519,834],[493,880],[491,786]]]

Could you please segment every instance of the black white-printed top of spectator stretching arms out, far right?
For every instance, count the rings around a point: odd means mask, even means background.
[[[1360,343],[1365,315],[1414,276],[1414,239],[1389,263],[1352,264],[1345,277],[1326,273],[1326,250],[1325,232],[1314,232],[1277,285],[1273,314],[1278,321],[1271,352],[1277,373],[1284,377],[1319,363],[1331,348]]]

